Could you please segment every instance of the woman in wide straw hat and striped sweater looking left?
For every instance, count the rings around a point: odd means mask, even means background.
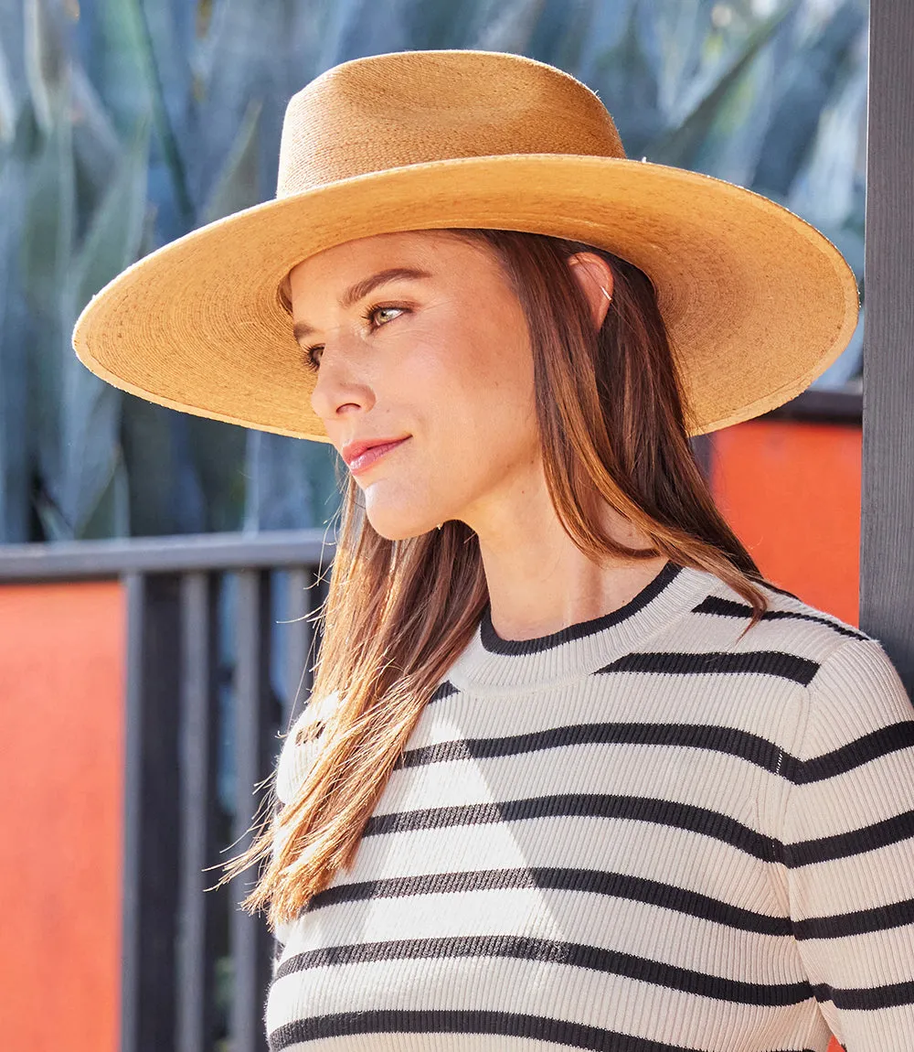
[[[312,701],[233,870],[265,863],[272,1049],[909,1047],[910,702],[762,579],[688,443],[855,319],[796,217],[472,52],[325,74],[276,201],[89,305],[99,375],[350,469]]]

